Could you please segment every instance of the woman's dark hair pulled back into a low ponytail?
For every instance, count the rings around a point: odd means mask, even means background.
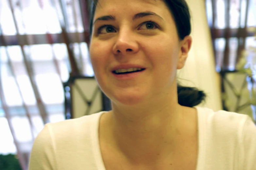
[[[171,11],[179,39],[183,40],[191,33],[191,15],[185,0],[163,0]],[[98,0],[89,0],[88,11],[90,18],[90,36],[92,35],[93,18]],[[178,102],[181,106],[193,107],[205,100],[206,94],[193,87],[184,87],[178,84]]]

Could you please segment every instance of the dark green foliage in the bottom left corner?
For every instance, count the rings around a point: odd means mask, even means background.
[[[0,155],[0,170],[22,170],[15,155]]]

